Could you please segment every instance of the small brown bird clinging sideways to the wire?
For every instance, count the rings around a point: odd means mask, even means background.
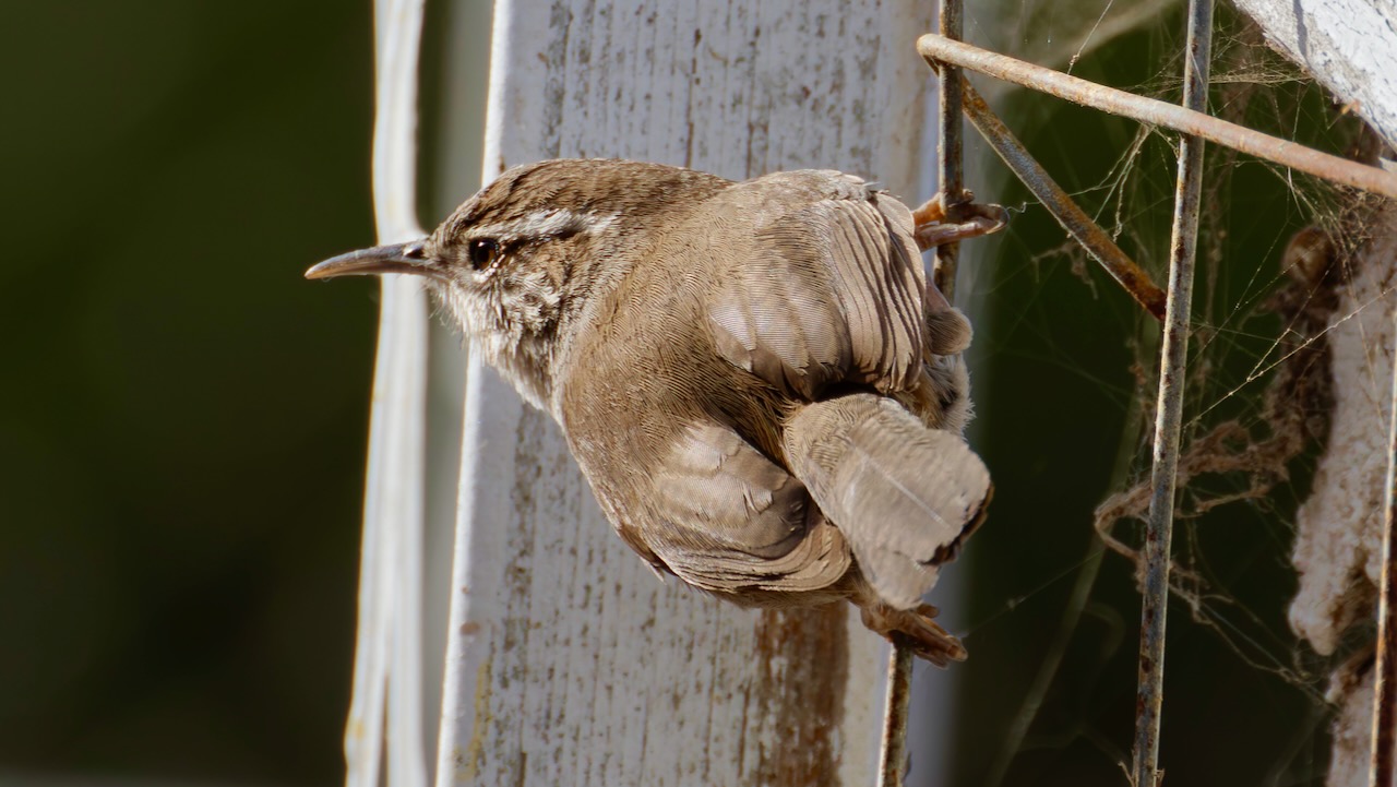
[[[919,250],[1003,226],[970,208],[914,218],[833,171],[546,161],[306,277],[426,277],[657,570],[743,605],[848,598],[944,665],[965,650],[922,595],[990,482],[961,439],[970,323]]]

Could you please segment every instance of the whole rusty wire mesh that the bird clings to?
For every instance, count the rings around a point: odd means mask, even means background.
[[[947,13],[946,7],[951,7]],[[947,25],[950,18],[950,25]],[[1169,547],[1172,541],[1173,496],[1183,404],[1185,362],[1187,356],[1189,310],[1193,289],[1193,260],[1197,242],[1199,197],[1201,192],[1203,144],[1211,141],[1264,158],[1337,183],[1397,198],[1397,176],[1375,166],[1316,151],[1289,140],[1273,137],[1228,123],[1204,113],[1211,49],[1213,0],[1190,0],[1187,53],[1185,59],[1183,105],[1176,106],[1098,85],[978,49],[958,41],[960,3],[944,0],[942,35],[925,35],[918,52],[942,75],[942,138],[939,175],[946,204],[964,200],[960,180],[960,117],[954,113],[956,94],[967,117],[990,143],[1000,158],[1044,203],[1067,232],[1106,267],[1151,315],[1164,317],[1165,335],[1161,349],[1160,398],[1155,424],[1153,496],[1146,535],[1146,587],[1141,608],[1140,688],[1136,714],[1134,769],[1136,787],[1154,787],[1158,770],[1160,719],[1165,656],[1165,621],[1169,589]],[[1182,134],[1179,178],[1171,242],[1169,294],[1165,296],[1109,236],[1078,208],[1023,148],[1009,129],[960,75],[971,68],[1000,80],[1048,92],[1083,106],[1162,126]],[[949,88],[949,85],[954,85]],[[954,126],[953,126],[954,124]],[[951,130],[947,130],[951,129]],[[954,151],[954,162],[949,152]],[[937,249],[936,282],[950,295],[954,288],[957,249]],[[1166,312],[1166,315],[1164,313]],[[1397,556],[1397,363],[1393,370],[1390,457],[1387,470],[1387,506],[1383,528],[1383,576],[1379,608],[1377,664],[1373,688],[1372,762],[1369,783],[1390,784],[1397,762],[1397,583],[1393,559]],[[901,661],[907,672],[898,675]],[[894,649],[890,661],[888,717],[884,727],[880,786],[900,786],[905,758],[905,702],[911,658]],[[895,749],[895,752],[894,752]],[[895,753],[895,760],[891,759]],[[893,765],[895,762],[895,766]]]

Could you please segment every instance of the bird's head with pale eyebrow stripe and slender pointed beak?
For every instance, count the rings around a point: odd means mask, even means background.
[[[427,280],[474,348],[538,407],[570,323],[605,296],[662,228],[728,182],[616,159],[515,166],[427,238],[328,259],[306,278],[415,274]]]

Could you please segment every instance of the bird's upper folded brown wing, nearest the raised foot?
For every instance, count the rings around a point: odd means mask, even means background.
[[[912,387],[926,278],[911,211],[837,172],[785,172],[731,192],[736,207],[715,242],[732,232],[754,243],[725,266],[707,308],[718,352],[806,400],[838,382]]]

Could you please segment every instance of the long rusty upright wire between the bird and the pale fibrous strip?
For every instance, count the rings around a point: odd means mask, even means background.
[[[1213,0],[1190,0],[1189,35],[1183,59],[1183,105],[1207,106],[1208,59],[1213,41]],[[1169,303],[1164,348],[1160,352],[1160,404],[1154,429],[1154,467],[1150,519],[1146,527],[1144,602],[1140,614],[1140,688],[1136,700],[1133,781],[1160,783],[1160,714],[1164,705],[1165,622],[1169,607],[1169,566],[1173,541],[1173,492],[1179,470],[1179,431],[1183,419],[1185,365],[1189,352],[1189,310],[1193,302],[1193,261],[1199,239],[1199,197],[1203,190],[1203,140],[1186,136],[1179,147],[1179,179],[1169,242]]]

